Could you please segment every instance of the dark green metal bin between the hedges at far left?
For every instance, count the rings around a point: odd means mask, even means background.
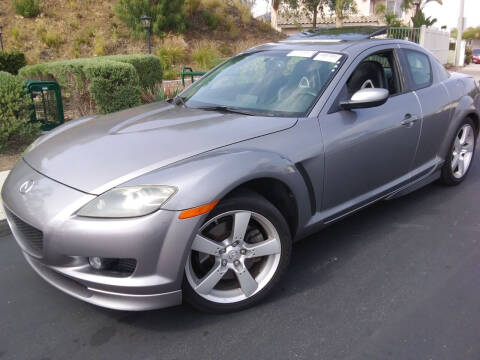
[[[29,80],[24,87],[33,100],[32,121],[42,123],[42,130],[48,131],[65,122],[62,93],[55,81]]]

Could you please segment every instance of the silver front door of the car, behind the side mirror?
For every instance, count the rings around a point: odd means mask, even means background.
[[[338,103],[355,90],[348,89],[349,79],[356,76],[355,71],[364,61],[383,66],[386,83],[381,87],[388,88],[390,97],[378,107],[343,110]],[[409,180],[420,136],[421,108],[416,95],[404,83],[395,45],[361,53],[340,80],[341,90],[338,96],[333,94],[336,100],[331,106],[327,104],[328,114],[320,117],[325,143],[323,211],[327,222]]]

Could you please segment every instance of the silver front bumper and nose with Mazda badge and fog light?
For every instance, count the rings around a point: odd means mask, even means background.
[[[22,194],[19,188],[27,181],[34,185]],[[179,220],[178,211],[168,210],[129,219],[74,215],[94,197],[20,161],[2,198],[28,263],[53,286],[95,305],[149,310],[180,304],[184,264],[201,217]],[[36,243],[29,238],[34,235]],[[136,267],[126,277],[98,272],[88,264],[90,256],[135,259]]]

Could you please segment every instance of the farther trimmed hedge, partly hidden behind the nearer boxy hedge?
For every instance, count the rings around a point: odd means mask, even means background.
[[[153,90],[155,84],[162,82],[162,63],[155,55],[112,55],[97,59],[106,59],[132,64],[137,70],[140,86],[145,90]]]

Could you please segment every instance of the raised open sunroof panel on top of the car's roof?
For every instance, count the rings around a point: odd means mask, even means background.
[[[304,30],[299,34],[290,36],[287,41],[301,40],[362,40],[373,36],[386,34],[388,27],[385,26],[347,26],[342,28],[317,28]]]

